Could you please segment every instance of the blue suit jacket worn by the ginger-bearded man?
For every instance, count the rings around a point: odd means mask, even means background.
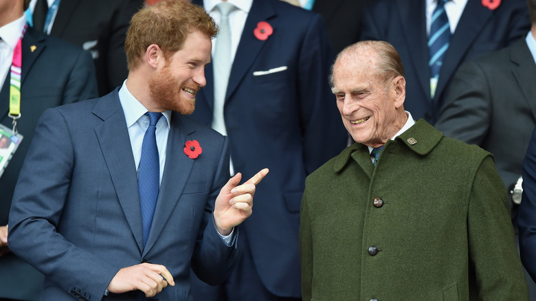
[[[188,140],[203,148],[197,159],[183,153]],[[45,274],[41,300],[100,300],[119,269],[142,262],[166,266],[175,279],[160,300],[189,300],[190,266],[206,282],[223,280],[237,254],[212,219],[229,175],[227,138],[173,112],[166,152],[143,248],[137,171],[118,90],[45,111],[16,186],[9,237],[12,251]]]

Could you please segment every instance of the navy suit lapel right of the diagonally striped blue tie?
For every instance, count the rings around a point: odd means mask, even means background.
[[[445,61],[439,73],[434,101],[437,101],[441,96],[445,90],[447,81],[452,77],[456,69],[458,69],[467,53],[467,49],[473,45],[478,33],[486,25],[487,20],[492,14],[493,11],[489,10],[489,8],[484,8],[480,1],[467,1],[460,16],[460,21],[456,26],[456,31],[452,35],[449,49],[445,54]]]

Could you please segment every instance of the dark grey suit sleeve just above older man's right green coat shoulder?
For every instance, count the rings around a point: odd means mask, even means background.
[[[446,136],[482,145],[491,123],[491,83],[482,67],[469,61],[454,76],[436,129]]]

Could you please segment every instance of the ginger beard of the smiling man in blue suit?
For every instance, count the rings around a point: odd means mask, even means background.
[[[170,71],[170,65],[166,65],[161,71],[149,80],[150,97],[158,102],[166,110],[177,111],[183,115],[190,115],[195,109],[195,98],[187,98],[183,88],[186,87],[197,93],[201,87],[193,80],[178,82]]]

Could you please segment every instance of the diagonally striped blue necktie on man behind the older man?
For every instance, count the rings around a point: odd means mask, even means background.
[[[445,11],[445,3],[447,1],[449,0],[438,0],[430,22],[430,35],[428,38],[430,60],[428,66],[430,68],[430,78],[435,78],[436,81],[439,78],[439,71],[441,65],[443,65],[445,52],[449,48],[451,36],[449,18]],[[432,89],[432,98],[434,93],[435,89]]]

